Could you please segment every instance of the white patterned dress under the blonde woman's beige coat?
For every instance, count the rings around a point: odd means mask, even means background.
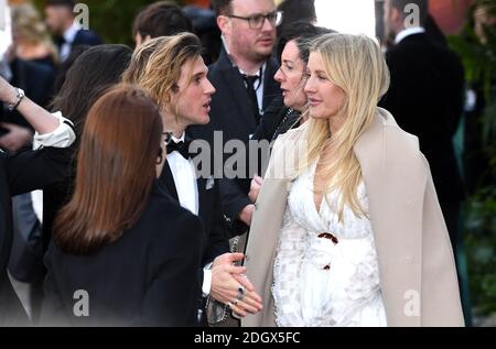
[[[273,269],[276,321],[282,327],[387,326],[370,220],[345,207],[337,195],[313,199],[312,166],[294,182],[280,231]],[[358,197],[368,209],[366,188]]]

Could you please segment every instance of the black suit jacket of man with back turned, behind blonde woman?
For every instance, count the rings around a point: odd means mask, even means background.
[[[452,138],[463,112],[464,73],[459,57],[425,34],[407,36],[387,53],[391,87],[380,106],[419,137],[441,204],[463,196]]]

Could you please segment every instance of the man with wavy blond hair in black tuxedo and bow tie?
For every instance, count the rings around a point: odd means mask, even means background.
[[[195,163],[190,153],[192,145],[202,145],[190,128],[207,128],[209,103],[215,92],[206,77],[207,67],[201,53],[202,45],[194,34],[153,39],[133,54],[123,81],[149,90],[160,106],[164,131],[171,134],[160,182],[205,226],[207,246],[200,271],[203,295],[227,304],[235,302],[238,287],[245,286],[248,291],[245,299],[239,299],[238,309],[240,314],[255,313],[260,298],[252,292],[251,284],[239,276],[245,269],[231,265],[244,255],[227,253],[229,246],[220,212],[218,181],[212,175],[212,168],[207,168],[208,164]],[[202,149],[198,156],[203,156],[204,151],[207,150]],[[211,160],[209,155],[207,157]],[[195,242],[192,240],[192,243]],[[203,304],[202,312],[204,307]]]

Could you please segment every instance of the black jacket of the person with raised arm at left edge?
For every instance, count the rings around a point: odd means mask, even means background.
[[[11,196],[43,188],[68,175],[67,150],[45,148],[13,156],[0,152],[0,326],[25,325],[26,316],[7,275],[12,244]]]

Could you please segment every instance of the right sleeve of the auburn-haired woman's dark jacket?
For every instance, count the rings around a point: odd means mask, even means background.
[[[158,237],[153,243],[149,258],[151,282],[141,315],[134,320],[138,326],[197,325],[203,225],[194,216],[184,215],[171,229],[174,230],[173,235],[168,239]]]

